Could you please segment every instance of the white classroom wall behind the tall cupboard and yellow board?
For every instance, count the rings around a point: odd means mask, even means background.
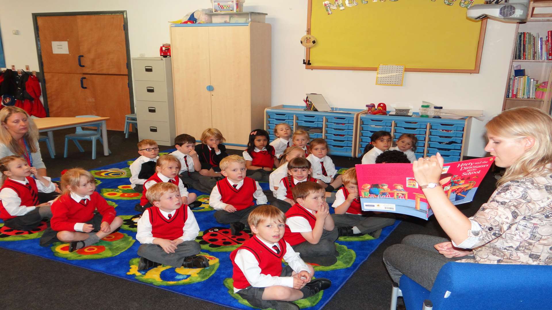
[[[209,0],[2,1],[0,29],[7,66],[38,70],[31,13],[126,10],[130,54],[158,56],[169,42],[168,20],[182,18]],[[306,1],[247,0],[246,10],[268,13],[272,24],[272,105],[301,105],[305,93],[321,93],[331,106],[364,108],[367,103],[401,103],[418,107],[422,100],[444,108],[483,109],[486,119],[500,113],[506,87],[515,24],[487,24],[479,74],[407,72],[402,87],[374,85],[373,71],[305,70],[299,39],[306,29]],[[71,25],[68,25],[71,26]],[[13,35],[12,30],[19,30]],[[358,29],[363,31],[362,29]],[[193,44],[193,42],[190,42]],[[450,51],[451,57],[459,57]],[[468,156],[483,156],[485,122],[473,121]]]

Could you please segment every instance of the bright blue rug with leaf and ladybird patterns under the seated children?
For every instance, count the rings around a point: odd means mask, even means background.
[[[0,222],[0,247],[160,287],[226,307],[251,309],[247,301],[233,293],[232,263],[229,259],[230,252],[251,237],[250,232],[231,236],[227,226],[215,221],[214,211],[209,207],[208,194],[190,190],[204,202],[193,211],[202,229],[197,241],[201,244],[201,255],[210,260],[209,268],[186,269],[162,265],[147,271],[137,270],[136,251],[140,243],[135,239],[137,215],[134,205],[139,201],[141,193],[130,188],[129,163],[131,161],[124,161],[91,170],[96,178],[96,190],[109,204],[115,206],[117,215],[124,219],[119,232],[110,234],[97,244],[69,253],[67,243],[55,243],[46,248],[39,246],[45,223],[34,231],[14,231]],[[268,183],[261,183],[261,186],[268,189]],[[340,238],[337,242],[340,254],[337,263],[329,267],[315,266],[315,277],[332,280],[332,286],[296,303],[305,309],[321,309],[398,224],[399,221],[385,228],[378,239],[368,235]]]

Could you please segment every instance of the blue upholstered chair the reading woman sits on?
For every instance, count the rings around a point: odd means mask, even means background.
[[[545,247],[548,247],[545,245]],[[407,310],[549,309],[552,303],[552,266],[444,264],[431,291],[403,275],[393,284],[391,310],[402,296]]]

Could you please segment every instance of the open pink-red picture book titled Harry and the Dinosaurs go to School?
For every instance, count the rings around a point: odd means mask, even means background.
[[[450,202],[459,205],[472,201],[494,159],[445,163],[439,183]],[[402,213],[426,220],[433,215],[414,179],[412,164],[359,164],[355,168],[362,210]]]

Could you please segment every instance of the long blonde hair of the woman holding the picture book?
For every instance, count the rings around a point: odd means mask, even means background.
[[[508,181],[539,177],[551,172],[552,117],[550,115],[535,108],[514,108],[493,117],[485,128],[492,135],[502,138],[532,137],[535,140],[533,147],[506,168],[506,173],[497,182],[498,186]]]

